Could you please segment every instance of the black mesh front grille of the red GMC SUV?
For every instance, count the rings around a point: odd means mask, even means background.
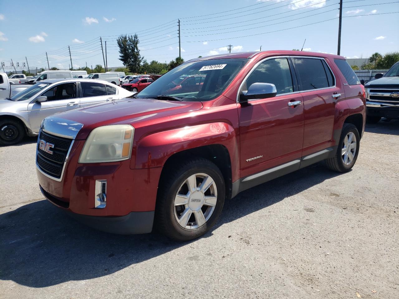
[[[51,148],[53,154],[47,153],[46,151],[40,149],[40,140],[54,144],[54,147]],[[54,136],[41,131],[38,138],[38,155],[36,157],[36,162],[40,169],[44,173],[60,179],[71,143],[72,139]]]

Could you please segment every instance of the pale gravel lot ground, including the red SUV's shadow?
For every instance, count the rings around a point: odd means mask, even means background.
[[[35,142],[0,148],[0,298],[399,297],[399,121],[366,128],[349,173],[247,190],[186,243],[69,218],[43,200]]]

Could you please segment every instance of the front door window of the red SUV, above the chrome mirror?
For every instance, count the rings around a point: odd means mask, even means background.
[[[286,58],[268,59],[249,75],[241,90],[248,90],[253,83],[272,83],[277,94],[293,92],[290,65]]]

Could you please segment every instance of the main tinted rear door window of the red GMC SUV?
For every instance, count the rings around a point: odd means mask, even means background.
[[[294,58],[294,61],[300,78],[300,90],[329,87],[327,74],[321,59]]]

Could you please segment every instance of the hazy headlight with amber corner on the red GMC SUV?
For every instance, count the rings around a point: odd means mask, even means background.
[[[134,128],[110,125],[95,128],[87,138],[79,163],[115,162],[130,159]]]

